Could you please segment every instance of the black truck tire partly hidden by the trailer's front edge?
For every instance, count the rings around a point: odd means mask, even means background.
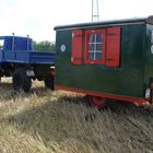
[[[55,90],[54,75],[46,75],[44,79],[45,86],[50,90]]]

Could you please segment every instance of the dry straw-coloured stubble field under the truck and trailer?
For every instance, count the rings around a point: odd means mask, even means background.
[[[0,153],[152,153],[153,111],[113,103],[98,111],[83,95],[45,90],[28,94],[0,84]]]

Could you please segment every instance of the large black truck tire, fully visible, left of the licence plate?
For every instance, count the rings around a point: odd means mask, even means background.
[[[26,75],[25,70],[21,69],[21,68],[16,69],[14,71],[12,82],[13,82],[13,89],[15,91],[19,91],[19,90],[22,89],[24,92],[27,93],[31,90],[31,86],[32,86],[31,78],[28,78]]]

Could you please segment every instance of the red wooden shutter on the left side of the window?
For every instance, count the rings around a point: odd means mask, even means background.
[[[81,30],[73,31],[71,62],[74,64],[82,63],[82,40],[83,40],[83,32]]]

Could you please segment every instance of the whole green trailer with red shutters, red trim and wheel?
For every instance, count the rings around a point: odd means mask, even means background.
[[[153,16],[56,26],[55,87],[106,98],[152,103]]]

